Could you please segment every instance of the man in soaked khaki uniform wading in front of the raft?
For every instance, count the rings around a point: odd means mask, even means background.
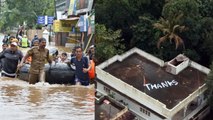
[[[44,65],[45,60],[49,62],[51,65],[52,60],[49,57],[49,50],[46,47],[46,39],[40,38],[39,39],[39,46],[32,47],[30,50],[27,51],[27,54],[23,57],[19,67],[23,66],[24,61],[29,57],[32,56],[32,62],[29,71],[29,83],[35,84],[39,81],[45,81],[45,71]]]

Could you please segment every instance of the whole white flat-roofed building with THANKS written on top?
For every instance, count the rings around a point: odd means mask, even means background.
[[[108,96],[138,120],[200,120],[209,71],[182,54],[164,62],[133,48],[96,67],[96,101]]]

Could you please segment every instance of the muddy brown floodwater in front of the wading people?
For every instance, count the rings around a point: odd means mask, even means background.
[[[58,48],[60,51],[70,50]],[[94,91],[93,85],[29,85],[16,78],[1,77],[0,119],[94,120]]]

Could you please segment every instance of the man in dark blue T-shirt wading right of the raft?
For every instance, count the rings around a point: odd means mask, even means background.
[[[83,56],[83,51],[80,46],[75,48],[75,57],[72,57],[70,63],[73,64],[76,68],[75,70],[75,82],[76,84],[81,84],[84,86],[89,85],[89,75],[88,71],[91,66],[89,60],[86,56]]]

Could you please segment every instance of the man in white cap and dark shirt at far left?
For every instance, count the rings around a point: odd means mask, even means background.
[[[18,44],[12,42],[10,48],[0,54],[2,60],[2,76],[15,78],[17,65],[21,61],[23,53],[18,50]]]

